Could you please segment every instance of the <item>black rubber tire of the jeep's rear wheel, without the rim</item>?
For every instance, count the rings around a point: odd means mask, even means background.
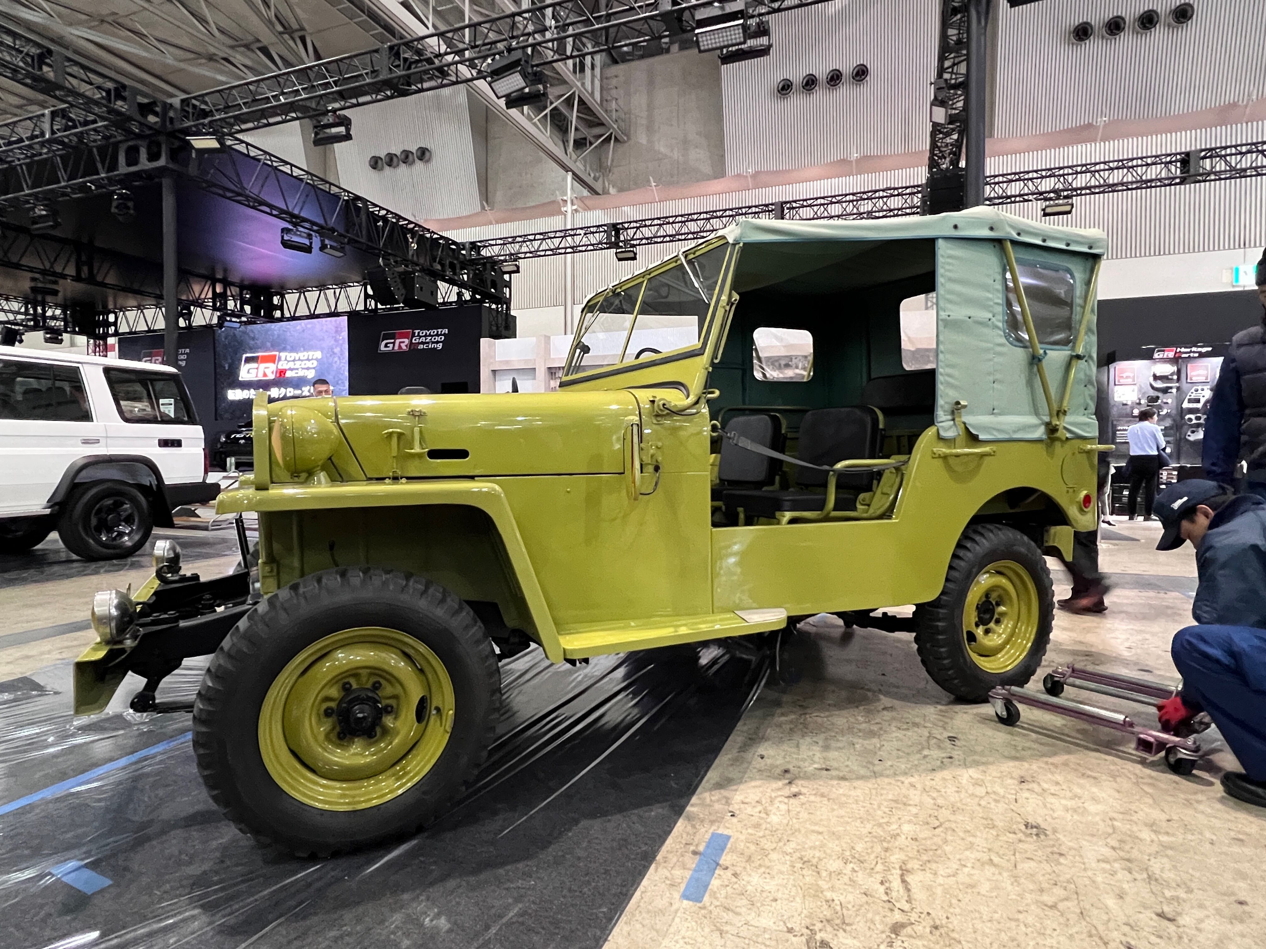
[[[963,607],[975,580],[993,563],[1019,564],[1033,581],[1037,592],[1034,638],[1023,657],[1010,668],[991,672],[982,668],[967,647]],[[928,676],[956,698],[982,702],[998,686],[1023,686],[1037,672],[1051,642],[1055,621],[1055,591],[1042,552],[1029,538],[1001,524],[972,524],[958,539],[941,596],[922,604],[917,611],[914,643]]]

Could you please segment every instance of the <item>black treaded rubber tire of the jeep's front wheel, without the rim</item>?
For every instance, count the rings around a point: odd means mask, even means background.
[[[454,707],[463,711],[436,763],[406,791],[356,811],[323,810],[292,797],[270,773],[260,749],[260,712],[295,655],[360,626],[399,630],[428,647],[452,679]],[[301,857],[325,857],[430,824],[487,757],[500,705],[492,643],[462,600],[411,573],[322,571],[266,597],[220,644],[194,704],[194,752],[211,800],[239,830]]]

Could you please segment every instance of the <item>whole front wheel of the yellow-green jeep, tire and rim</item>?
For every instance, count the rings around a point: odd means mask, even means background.
[[[211,800],[300,855],[411,834],[487,755],[492,643],[438,583],[379,568],[304,577],[220,644],[194,705]]]

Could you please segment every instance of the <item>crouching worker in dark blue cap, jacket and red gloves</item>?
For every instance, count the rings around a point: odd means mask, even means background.
[[[1266,807],[1266,500],[1180,481],[1157,495],[1156,515],[1165,525],[1156,549],[1190,540],[1200,577],[1198,625],[1170,648],[1182,690],[1157,706],[1161,726],[1181,734],[1206,712],[1244,768],[1223,774],[1222,787]]]

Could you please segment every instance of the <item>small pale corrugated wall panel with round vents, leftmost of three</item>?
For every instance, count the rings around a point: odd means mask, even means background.
[[[352,140],[334,146],[339,183],[414,220],[480,209],[466,90],[461,86],[349,109]],[[372,171],[370,156],[432,151],[427,163]]]

